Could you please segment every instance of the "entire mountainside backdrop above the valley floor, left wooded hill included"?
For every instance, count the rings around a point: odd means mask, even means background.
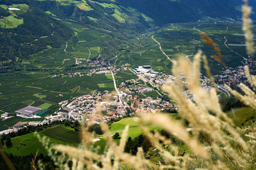
[[[134,33],[156,25],[209,19],[240,20],[242,3],[239,0],[3,0],[0,3],[0,68],[12,67],[31,54],[64,45],[73,32],[59,19],[116,32],[116,36],[109,39],[109,46],[116,46],[120,39],[126,41],[124,39]],[[251,4],[255,6],[255,1]],[[19,10],[9,10],[9,7]],[[104,54],[113,57],[113,53],[105,51],[103,49]]]

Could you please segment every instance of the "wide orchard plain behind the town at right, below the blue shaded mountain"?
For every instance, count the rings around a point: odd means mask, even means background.
[[[172,24],[157,32],[141,34],[137,41],[131,42],[134,43],[134,47],[118,56],[116,63],[129,63],[131,66],[151,65],[156,71],[171,73],[172,62],[163,55],[159,45],[152,39],[154,36],[154,39],[161,43],[164,53],[171,59],[175,59],[177,56],[193,59],[193,55],[198,49],[202,49],[207,55],[212,72],[218,73],[221,66],[214,59],[211,59],[211,55],[216,54],[216,52],[211,49],[211,46],[204,44],[200,32],[208,34],[214,43],[220,47],[227,66],[240,66],[243,57],[247,56],[241,25],[189,23]]]

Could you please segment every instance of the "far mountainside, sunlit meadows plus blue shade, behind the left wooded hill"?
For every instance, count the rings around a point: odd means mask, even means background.
[[[150,24],[193,22],[205,17],[241,19],[240,0],[34,0],[44,11],[104,29],[143,29]],[[255,6],[255,1],[250,2]]]

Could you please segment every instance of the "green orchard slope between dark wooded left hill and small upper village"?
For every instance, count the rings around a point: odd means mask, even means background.
[[[61,46],[61,48],[48,46],[47,50],[31,55],[30,60],[22,61],[24,67],[56,69],[76,66],[74,57],[88,59],[98,57],[101,52],[100,47],[104,46],[104,42],[110,38],[104,32],[96,31],[83,25],[67,21],[63,21],[63,24],[74,30],[74,36],[67,41],[67,46]],[[68,55],[68,53],[72,56]]]

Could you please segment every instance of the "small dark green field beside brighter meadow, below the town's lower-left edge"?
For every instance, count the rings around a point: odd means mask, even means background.
[[[42,131],[42,134],[45,134],[46,136],[49,136],[51,138],[58,139],[60,141],[64,141],[67,143],[80,142],[79,132],[70,130],[69,128],[63,125],[58,125],[56,127],[48,128],[45,131]]]

